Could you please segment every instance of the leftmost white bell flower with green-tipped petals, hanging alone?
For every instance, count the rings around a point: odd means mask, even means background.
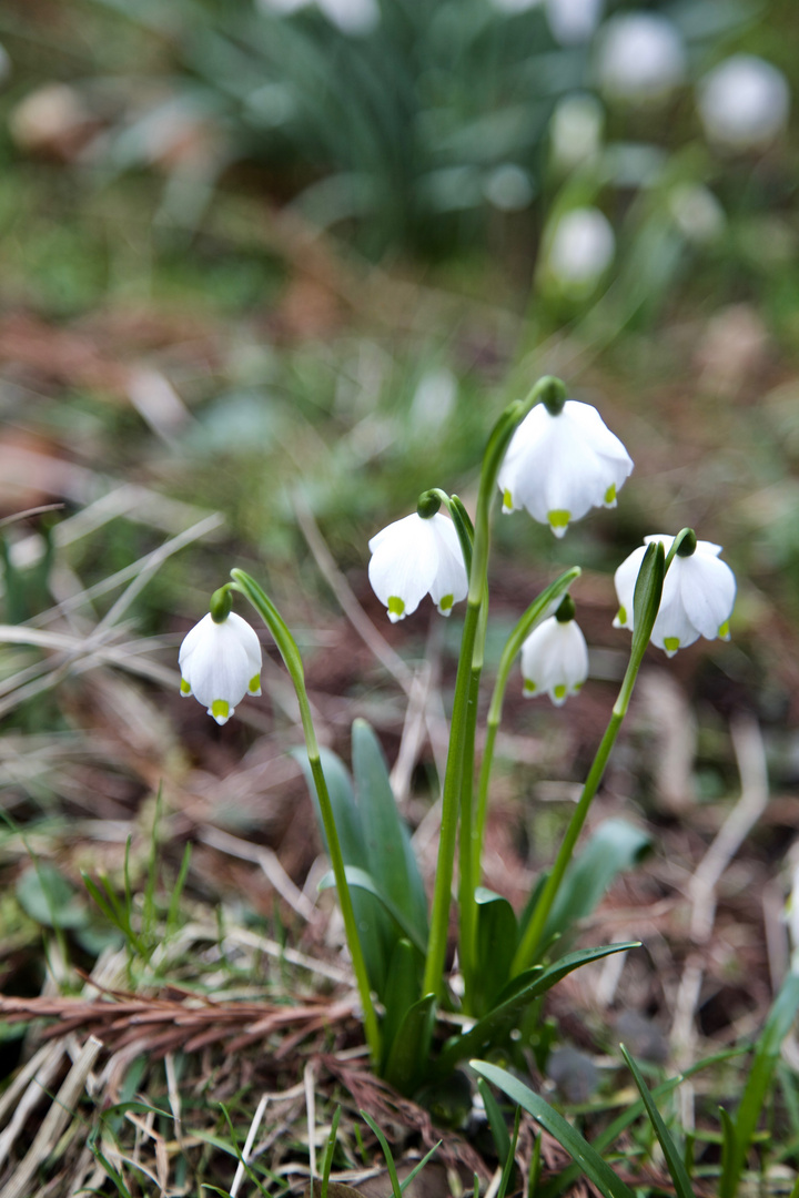
[[[178,662],[181,695],[194,695],[217,724],[228,722],[244,695],[261,694],[261,643],[235,612],[220,624],[204,616],[183,640]]]

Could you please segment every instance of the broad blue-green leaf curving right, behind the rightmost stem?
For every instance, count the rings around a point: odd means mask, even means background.
[[[546,920],[544,943],[568,936],[577,920],[593,912],[616,876],[637,865],[650,847],[649,836],[627,819],[605,819],[563,877]]]

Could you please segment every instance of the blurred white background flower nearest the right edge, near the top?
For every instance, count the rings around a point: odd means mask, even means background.
[[[732,150],[759,150],[785,128],[791,91],[773,63],[753,54],[736,54],[702,79],[697,103],[710,141]]]

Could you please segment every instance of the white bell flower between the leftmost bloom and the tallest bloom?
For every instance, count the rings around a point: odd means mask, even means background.
[[[414,512],[395,520],[371,538],[369,549],[369,581],[392,624],[414,612],[428,593],[442,616],[468,593],[455,526],[441,513],[424,520]]]

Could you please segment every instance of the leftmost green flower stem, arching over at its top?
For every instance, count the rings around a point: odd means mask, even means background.
[[[367,1042],[371,1053],[373,1064],[377,1066],[381,1052],[377,1015],[375,1005],[371,1000],[371,988],[369,986],[367,963],[361,948],[358,925],[356,922],[355,910],[352,907],[352,896],[346,879],[344,855],[341,853],[341,846],[335,829],[335,819],[333,818],[333,805],[331,803],[329,791],[327,789],[327,780],[325,778],[322,762],[319,755],[316,730],[314,728],[310,703],[308,701],[308,691],[305,690],[305,672],[302,664],[302,657],[299,654],[299,649],[297,648],[297,642],[289,631],[287,624],[258,582],[255,582],[249,574],[246,574],[244,570],[234,569],[230,574],[235,580],[235,589],[241,592],[241,594],[243,594],[252,603],[255,611],[272,633],[274,642],[280,651],[280,657],[283,658],[285,667],[291,676],[295,691],[297,692],[297,702],[299,704],[299,715],[302,719],[302,731],[305,737],[305,749],[308,751],[308,764],[310,766],[314,785],[316,786],[319,806],[322,812],[322,823],[325,824],[327,849],[331,857],[331,865],[333,866],[333,876],[335,877],[339,903],[341,906],[341,915],[344,916],[344,930],[346,932],[350,955],[352,956],[352,968],[355,970],[358,993],[361,994],[361,1004],[363,1006],[363,1023],[367,1033]]]

